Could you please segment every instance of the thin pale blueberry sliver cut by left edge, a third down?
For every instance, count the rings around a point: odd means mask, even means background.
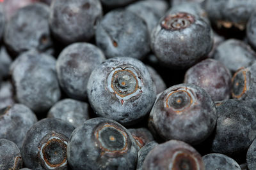
[[[6,51],[6,48],[4,46],[1,46],[0,49],[0,74],[4,78],[9,76],[9,67],[12,63],[12,59],[8,52]]]

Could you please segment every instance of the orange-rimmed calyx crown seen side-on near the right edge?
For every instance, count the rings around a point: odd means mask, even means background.
[[[232,78],[232,97],[239,99],[243,96],[243,94],[247,91],[247,78],[246,74],[248,73],[247,69],[243,67],[239,69]]]

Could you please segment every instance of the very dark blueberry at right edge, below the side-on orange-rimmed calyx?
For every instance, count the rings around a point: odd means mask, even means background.
[[[229,155],[247,150],[256,137],[253,108],[229,99],[218,106],[217,115],[212,151]]]

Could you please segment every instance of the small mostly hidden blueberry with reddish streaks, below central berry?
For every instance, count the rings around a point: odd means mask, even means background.
[[[132,137],[136,141],[136,144],[139,146],[138,148],[142,148],[150,141],[153,141],[154,138],[150,131],[146,129],[145,127],[141,127],[138,129],[128,129],[129,132],[131,132]]]

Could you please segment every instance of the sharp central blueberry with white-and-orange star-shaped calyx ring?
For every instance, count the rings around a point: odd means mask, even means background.
[[[150,111],[156,87],[143,62],[115,57],[92,71],[87,94],[96,115],[131,125]]]

